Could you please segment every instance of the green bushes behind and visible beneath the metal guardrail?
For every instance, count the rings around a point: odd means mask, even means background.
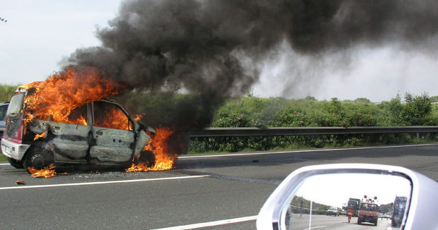
[[[432,113],[427,94],[397,95],[389,102],[374,104],[366,98],[354,101],[307,99],[230,98],[219,109],[213,127],[352,127],[352,126],[436,126],[438,111]],[[273,109],[275,108],[275,109]],[[437,109],[438,110],[438,109]],[[436,133],[420,136],[437,141]],[[342,147],[415,143],[411,134],[298,135],[241,138],[193,138],[191,152],[237,152],[297,147]]]

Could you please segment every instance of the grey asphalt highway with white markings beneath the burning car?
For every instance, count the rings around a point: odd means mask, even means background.
[[[294,169],[391,164],[438,181],[438,144],[185,155],[171,171],[69,170],[49,179],[6,163],[0,162],[0,229],[255,229],[260,207]],[[347,226],[346,217],[342,222]]]

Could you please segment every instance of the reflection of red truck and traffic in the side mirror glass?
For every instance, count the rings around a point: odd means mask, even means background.
[[[403,229],[411,189],[410,181],[402,176],[311,176],[282,213],[283,224],[286,229]]]

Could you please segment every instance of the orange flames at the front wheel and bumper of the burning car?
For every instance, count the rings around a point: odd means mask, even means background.
[[[154,154],[154,164],[148,167],[148,162],[132,163],[131,167],[125,169],[125,171],[163,171],[172,169],[177,159],[175,153],[169,152],[167,144],[168,138],[172,134],[171,128],[156,128],[156,135],[143,148],[143,151],[151,151]]]

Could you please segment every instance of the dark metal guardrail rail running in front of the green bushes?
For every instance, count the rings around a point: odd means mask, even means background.
[[[204,128],[191,130],[191,138],[239,137],[269,135],[337,135],[381,133],[438,133],[438,126],[393,126],[393,127],[270,127],[270,128]]]

